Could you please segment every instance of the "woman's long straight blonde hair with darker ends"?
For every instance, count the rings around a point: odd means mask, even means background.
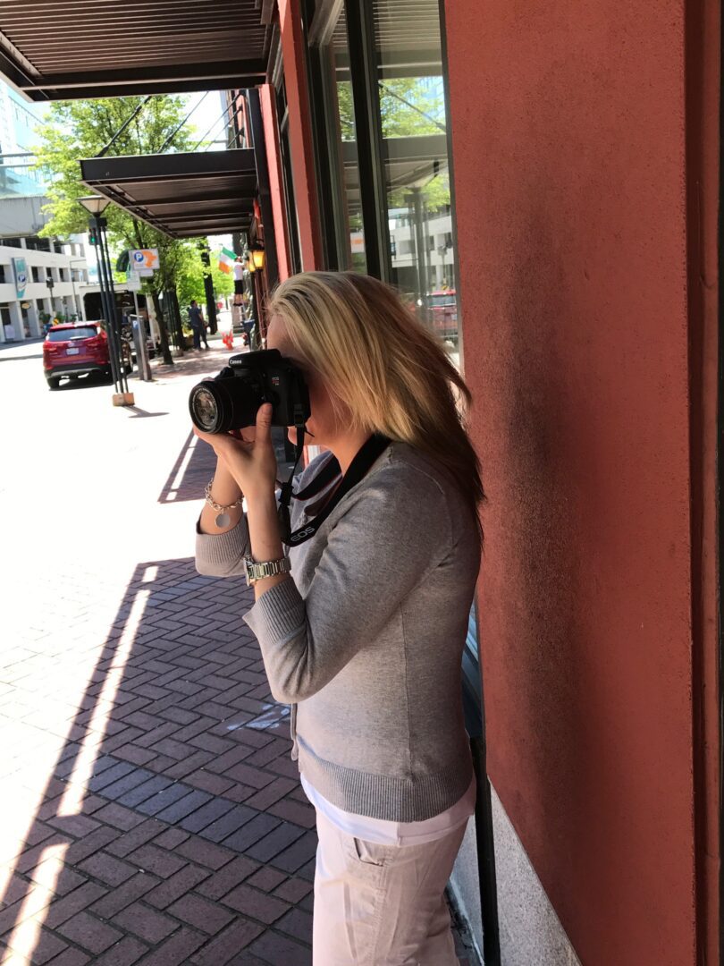
[[[344,405],[350,428],[432,457],[458,484],[480,530],[480,461],[458,405],[470,404],[470,390],[397,292],[370,275],[305,271],[276,288],[269,313]]]

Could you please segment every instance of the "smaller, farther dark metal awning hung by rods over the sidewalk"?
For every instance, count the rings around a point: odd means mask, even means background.
[[[257,194],[252,148],[90,157],[80,168],[84,185],[172,238],[249,230]]]

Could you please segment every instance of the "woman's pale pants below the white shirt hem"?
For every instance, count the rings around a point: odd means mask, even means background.
[[[376,845],[318,810],[314,966],[458,966],[445,886],[465,823],[422,845]]]

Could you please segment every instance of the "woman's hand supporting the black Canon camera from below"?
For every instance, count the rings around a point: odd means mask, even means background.
[[[200,440],[208,442],[227,469],[247,504],[259,497],[274,493],[276,485],[276,456],[271,443],[271,405],[265,403],[257,412],[254,427],[237,433],[202,433],[194,427]]]

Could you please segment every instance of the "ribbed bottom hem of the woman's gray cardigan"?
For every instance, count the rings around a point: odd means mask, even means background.
[[[467,790],[472,758],[463,747],[458,760],[432,774],[410,778],[374,775],[325,761],[297,735],[299,771],[328,802],[355,815],[389,822],[424,822],[450,809]]]

